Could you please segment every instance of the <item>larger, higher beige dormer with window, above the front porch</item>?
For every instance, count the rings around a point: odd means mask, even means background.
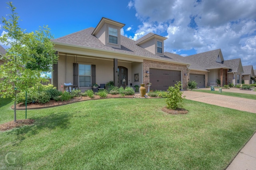
[[[96,36],[106,46],[121,48],[120,30],[124,25],[103,17],[92,32],[92,35]]]

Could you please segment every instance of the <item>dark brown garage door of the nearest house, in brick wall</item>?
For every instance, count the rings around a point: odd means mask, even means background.
[[[152,69],[149,70],[151,89],[166,91],[169,86],[174,86],[176,81],[181,81],[181,71]]]

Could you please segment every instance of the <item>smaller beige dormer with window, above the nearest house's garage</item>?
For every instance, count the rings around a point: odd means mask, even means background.
[[[149,52],[164,56],[164,40],[167,38],[158,36],[153,33],[149,33],[146,36],[140,38],[136,41],[136,45],[139,45],[140,47],[148,50]]]

